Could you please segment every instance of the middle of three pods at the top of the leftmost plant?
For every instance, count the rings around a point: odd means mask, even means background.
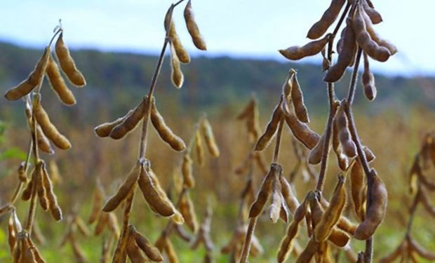
[[[48,80],[50,81],[51,88],[55,90],[55,93],[58,95],[60,101],[67,105],[76,104],[76,98],[74,97],[74,94],[72,94],[71,90],[69,90],[67,87],[67,84],[65,84],[65,81],[60,75],[58,65],[53,60],[51,55],[50,58],[48,58],[46,74],[48,76]]]

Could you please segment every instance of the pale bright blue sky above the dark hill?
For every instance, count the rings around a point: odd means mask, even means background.
[[[170,0],[2,0],[0,41],[42,48],[62,19],[69,48],[157,54],[163,44],[163,18]],[[277,50],[307,43],[309,27],[319,20],[325,0],[192,0],[196,21],[208,51],[195,50],[181,8],[175,25],[194,55],[285,62]],[[373,0],[384,22],[375,25],[399,53],[387,62],[370,62],[375,72],[389,75],[434,75],[434,0]],[[321,55],[301,60],[317,62]]]

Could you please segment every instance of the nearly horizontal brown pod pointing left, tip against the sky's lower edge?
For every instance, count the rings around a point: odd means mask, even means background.
[[[287,49],[280,49],[279,53],[288,60],[300,60],[301,58],[320,53],[322,48],[329,42],[329,39],[330,34],[327,34],[323,39],[311,41],[304,46],[290,46]]]

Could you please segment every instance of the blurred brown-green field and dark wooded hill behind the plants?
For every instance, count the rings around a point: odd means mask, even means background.
[[[41,50],[33,50],[0,43],[0,86],[14,86],[27,76]],[[55,161],[60,169],[62,182],[55,186],[60,206],[65,215],[73,208],[87,219],[91,212],[91,194],[95,180],[99,178],[107,194],[112,194],[123,176],[135,163],[138,154],[139,129],[128,135],[126,140],[100,139],[93,128],[103,122],[122,116],[131,105],[135,105],[147,91],[149,79],[154,70],[156,57],[133,53],[101,53],[97,50],[79,50],[72,54],[76,64],[86,76],[88,86],[74,89],[76,107],[65,107],[57,102],[48,86],[43,88],[44,105],[60,128],[73,144],[71,150],[57,150],[55,156],[45,156],[46,161]],[[167,59],[167,58],[166,58]],[[290,67],[298,72],[304,91],[305,101],[311,115],[310,127],[322,133],[326,123],[326,86],[321,82],[321,67],[316,64],[291,64],[274,60],[234,59],[229,57],[194,58],[185,71],[185,86],[175,90],[170,84],[169,67],[163,67],[156,89],[156,103],[166,122],[183,139],[188,140],[194,131],[194,123],[206,112],[215,131],[221,156],[208,159],[204,168],[196,167],[194,175],[197,187],[192,198],[199,217],[203,216],[206,200],[213,200],[213,221],[211,235],[215,242],[214,257],[217,262],[227,262],[220,255],[220,248],[229,241],[235,227],[238,198],[244,178],[236,175],[234,169],[243,161],[249,151],[244,125],[236,120],[243,106],[255,93],[260,102],[260,124],[263,129],[272,112],[274,103],[281,93],[283,80]],[[347,90],[349,74],[337,84],[337,95],[342,97]],[[358,86],[356,95],[356,126],[359,135],[377,156],[374,168],[386,182],[389,191],[387,217],[375,234],[375,256],[386,255],[401,242],[408,220],[407,209],[411,197],[408,194],[408,172],[413,156],[420,149],[425,133],[434,129],[435,79],[431,77],[376,76],[378,97],[368,102]],[[44,84],[48,85],[48,84]],[[1,141],[0,141],[0,200],[4,203],[17,182],[15,169],[25,157],[29,135],[23,118],[23,102],[0,100]],[[295,166],[295,156],[287,128],[283,133],[282,153],[279,162],[288,175]],[[171,151],[156,133],[150,137],[150,160],[154,170],[166,189],[173,183],[173,171],[179,169],[181,154]],[[271,147],[272,148],[272,147]],[[153,150],[158,149],[158,150]],[[272,159],[272,149],[265,153]],[[314,167],[318,169],[318,167]],[[338,173],[335,157],[330,158],[326,179],[326,196],[330,196]],[[255,173],[256,184],[262,174]],[[435,179],[435,175],[430,175]],[[314,180],[305,182],[297,175],[295,190],[298,198],[315,186]],[[434,196],[431,196],[434,199]],[[133,223],[154,241],[166,220],[157,218],[136,196]],[[24,218],[28,203],[18,202],[18,215]],[[352,219],[352,209],[347,209]],[[39,245],[47,262],[74,262],[68,246],[58,249],[58,243],[65,231],[65,220],[53,222],[47,213],[37,213],[46,244]],[[0,262],[9,262],[7,245],[7,216],[0,217]],[[415,218],[413,234],[429,250],[435,250],[435,227],[433,219],[419,208]],[[24,220],[22,220],[24,221]],[[265,255],[250,259],[250,262],[275,262],[276,249],[284,234],[285,224],[272,224],[262,217],[258,224],[257,236],[265,248]],[[305,229],[302,229],[305,231]],[[304,236],[300,235],[304,244]],[[192,251],[188,245],[173,237],[180,262],[201,262],[203,252]],[[89,262],[98,262],[101,237],[80,237],[79,243],[86,251]],[[363,242],[353,242],[354,250],[363,248]],[[341,257],[345,262],[344,256]]]

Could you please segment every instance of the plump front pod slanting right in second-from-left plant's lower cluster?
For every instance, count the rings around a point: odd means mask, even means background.
[[[175,208],[165,191],[161,189],[159,181],[152,177],[152,173],[149,173],[142,164],[138,184],[145,200],[154,212],[163,215],[163,217],[169,217],[175,213]]]

